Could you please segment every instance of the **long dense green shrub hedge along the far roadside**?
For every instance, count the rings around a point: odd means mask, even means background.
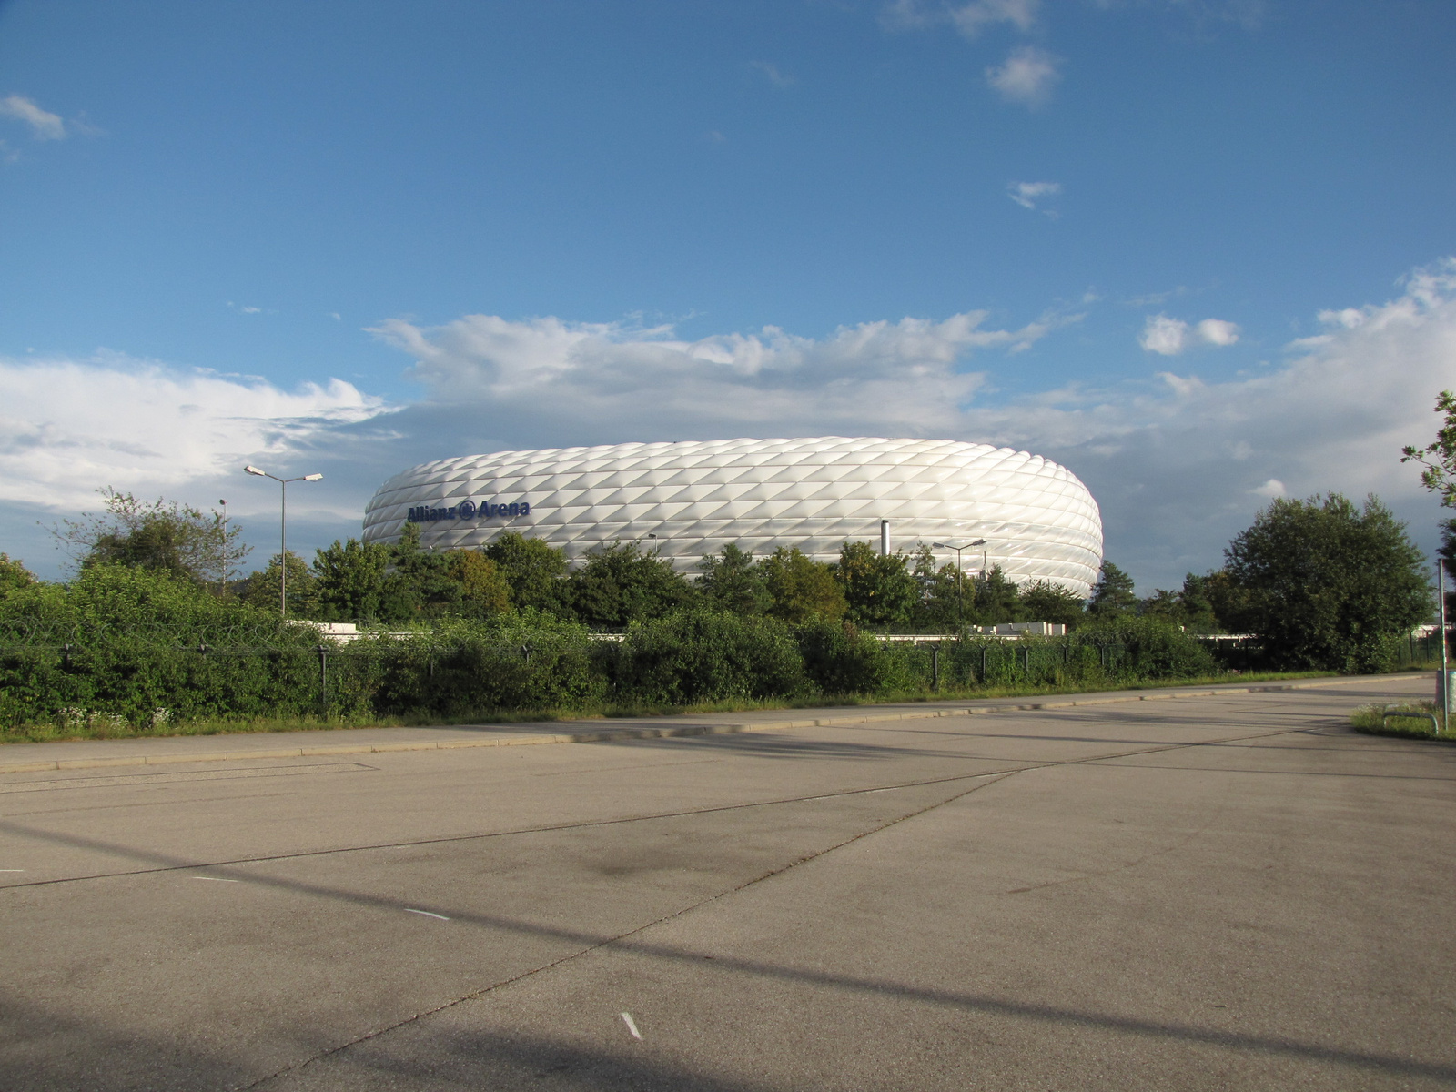
[[[443,620],[348,645],[163,574],[93,566],[0,598],[0,724],[403,716],[681,706],[1010,684],[1208,676],[1195,639],[1152,619],[1066,638],[884,642],[844,622],[789,625],[705,607],[619,639],[534,610]]]

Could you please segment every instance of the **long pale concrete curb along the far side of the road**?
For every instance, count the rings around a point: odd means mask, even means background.
[[[1420,674],[1379,676],[1382,681],[1424,678]],[[929,721],[939,716],[986,716],[990,713],[1035,712],[1040,709],[1072,709],[1079,705],[1115,705],[1118,702],[1159,702],[1176,697],[1214,697],[1217,695],[1258,695],[1280,690],[1312,690],[1324,686],[1358,686],[1363,678],[1312,678],[1303,683],[1257,683],[1242,687],[1201,690],[1168,690],[1159,693],[1112,695],[1104,697],[1069,699],[1064,702],[1015,702],[958,708],[926,708],[895,713],[846,713],[839,716],[798,718],[792,721],[760,721],[756,724],[683,724],[661,728],[594,728],[579,732],[515,735],[496,740],[443,740],[435,743],[376,743],[320,744],[316,747],[275,747],[245,751],[204,751],[201,754],[125,754],[108,759],[50,759],[44,761],[3,761],[0,773],[42,773],[48,770],[93,770],[111,766],[178,766],[191,761],[242,761],[246,759],[316,759],[328,754],[387,754],[390,751],[450,751],[466,747],[529,747],[553,743],[609,743],[613,740],[673,740],[695,735],[734,735],[740,732],[775,732],[794,728],[833,728],[847,724],[885,724],[893,721]],[[84,743],[84,741],[83,741]],[[25,745],[25,744],[19,744]]]

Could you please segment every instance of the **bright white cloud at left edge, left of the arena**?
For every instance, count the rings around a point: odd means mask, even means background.
[[[102,485],[170,491],[384,411],[342,380],[287,392],[116,355],[0,358],[0,499],[84,507]]]

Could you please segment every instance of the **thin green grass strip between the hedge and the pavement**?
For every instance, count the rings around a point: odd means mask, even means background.
[[[990,686],[990,687],[943,687],[900,690],[881,695],[817,695],[804,697],[738,699],[702,702],[697,705],[641,705],[600,703],[572,709],[480,709],[459,716],[280,716],[253,719],[217,719],[166,724],[149,728],[134,728],[118,724],[32,724],[0,728],[0,744],[6,743],[54,743],[61,740],[146,740],[179,735],[227,735],[236,732],[301,732],[331,731],[339,728],[419,728],[425,725],[453,724],[531,724],[540,721],[596,721],[626,716],[667,716],[671,713],[737,713],[767,709],[824,709],[830,706],[859,705],[906,705],[914,702],[958,702],[989,697],[1041,697],[1047,695],[1075,695],[1109,690],[1153,690],[1181,686],[1210,686],[1227,683],[1264,683],[1294,678],[1329,678],[1324,671],[1264,671],[1227,673],[1200,676],[1194,678],[1158,678],[1104,681],[1096,686]],[[1376,718],[1379,719],[1379,718]],[[1356,725],[1357,728],[1360,725]],[[1364,731],[1361,728],[1361,731]],[[1402,732],[1386,731],[1396,735]],[[1425,738],[1431,738],[1430,728]]]

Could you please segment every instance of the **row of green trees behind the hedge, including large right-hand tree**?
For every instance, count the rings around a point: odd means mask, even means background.
[[[754,558],[729,545],[705,556],[690,579],[639,542],[597,547],[572,566],[563,550],[517,531],[483,549],[431,550],[415,524],[397,543],[333,542],[312,565],[274,555],[266,568],[229,578],[245,553],[236,524],[166,501],[102,495],[103,514],[57,530],[82,574],[159,571],[220,601],[277,614],[287,563],[291,617],[396,629],[530,612],[625,630],[699,609],[917,633],[1005,622],[1105,629],[1140,617],[1191,633],[1252,635],[1268,667],[1361,671],[1393,662],[1433,604],[1405,526],[1374,496],[1356,505],[1340,494],[1271,502],[1229,543],[1223,568],[1188,574],[1176,591],[1140,598],[1133,579],[1104,561],[1086,601],[1050,581],[1016,585],[999,566],[958,571],[927,546],[885,556],[871,543],[846,542],[834,562],[820,562],[794,546]],[[32,581],[0,556],[0,596]]]

